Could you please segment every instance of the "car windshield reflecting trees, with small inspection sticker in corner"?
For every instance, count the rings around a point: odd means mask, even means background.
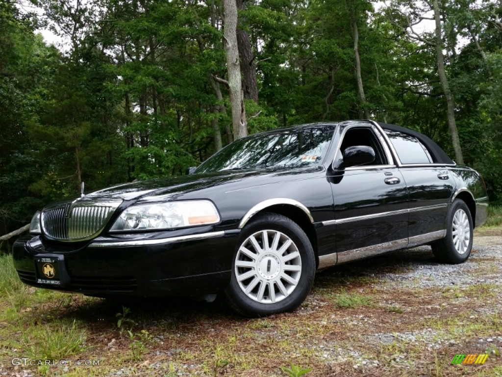
[[[332,131],[327,127],[277,130],[242,138],[212,155],[194,173],[317,165],[326,153]]]

